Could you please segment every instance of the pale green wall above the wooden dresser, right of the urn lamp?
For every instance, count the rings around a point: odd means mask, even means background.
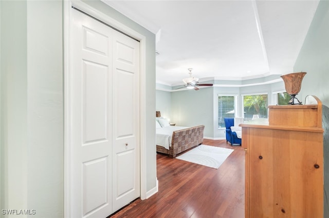
[[[307,72],[300,94],[316,95],[329,106],[329,2],[320,1],[303,47],[294,66],[295,72]]]

